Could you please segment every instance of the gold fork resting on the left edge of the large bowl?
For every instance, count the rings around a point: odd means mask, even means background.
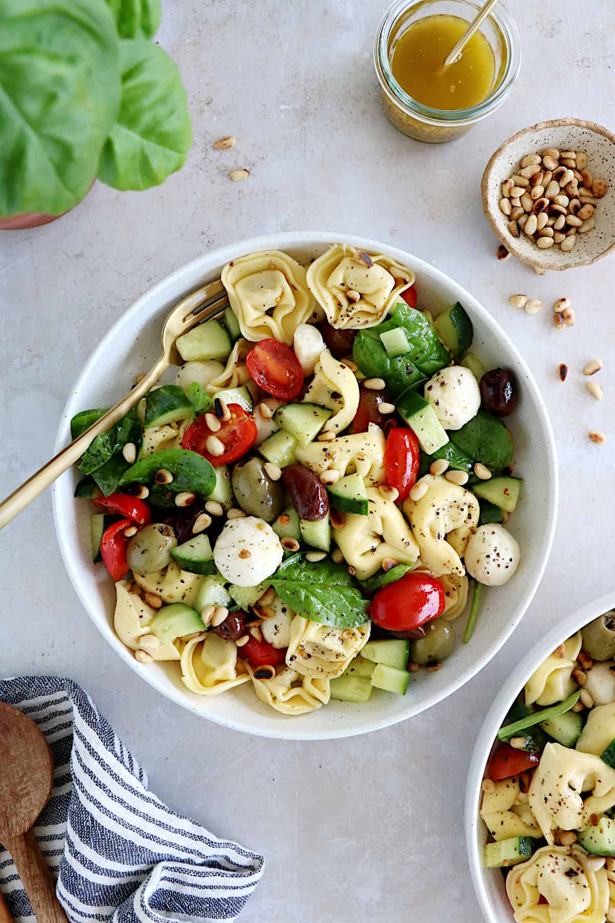
[[[186,295],[172,309],[171,314],[164,321],[160,335],[162,355],[158,362],[150,368],[146,377],[131,390],[130,394],[126,395],[122,401],[117,402],[111,410],[101,416],[100,420],[92,424],[85,433],[82,433],[65,449],[58,452],[50,462],[44,464],[36,474],[32,474],[24,484],[0,503],[0,529],[3,529],[7,522],[10,522],[32,500],[36,499],[46,487],[53,484],[53,481],[60,474],[67,471],[75,462],[78,462],[85,450],[88,449],[92,439],[106,432],[111,426],[118,423],[129,410],[132,410],[141,398],[145,397],[152,385],[156,384],[169,366],[182,365],[183,359],[177,352],[175,345],[178,337],[182,336],[183,333],[187,333],[188,330],[192,330],[196,324],[215,318],[228,304],[229,299],[219,279],[216,282],[209,282],[203,288]]]

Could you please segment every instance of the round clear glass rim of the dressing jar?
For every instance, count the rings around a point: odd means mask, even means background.
[[[455,124],[463,126],[477,122],[502,105],[506,94],[512,89],[516,78],[519,76],[521,40],[516,23],[503,3],[499,3],[489,15],[489,18],[494,21],[502,32],[506,51],[506,67],[503,77],[495,89],[484,100],[477,102],[476,105],[467,106],[466,109],[436,109],[415,100],[401,87],[393,76],[393,69],[388,56],[389,38],[397,20],[408,9],[420,2],[424,2],[424,0],[395,0],[395,3],[389,6],[384,14],[373,42],[373,63],[381,87],[394,102],[400,104],[409,114],[418,116],[423,122],[428,122],[431,125]],[[479,12],[480,5],[475,3],[474,0],[456,0],[456,2],[464,3],[466,6],[473,6],[477,13]]]

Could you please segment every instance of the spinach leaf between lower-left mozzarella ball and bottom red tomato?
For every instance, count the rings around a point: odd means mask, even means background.
[[[330,558],[311,563],[302,554],[282,561],[270,581],[278,596],[303,618],[349,629],[368,622],[367,600],[344,564]]]

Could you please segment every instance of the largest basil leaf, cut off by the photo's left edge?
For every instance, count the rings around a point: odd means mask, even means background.
[[[120,104],[115,22],[91,0],[0,3],[0,215],[86,195]]]

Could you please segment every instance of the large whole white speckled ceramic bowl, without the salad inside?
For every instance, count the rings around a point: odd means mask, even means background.
[[[115,636],[113,584],[104,569],[91,564],[91,509],[88,503],[73,498],[77,473],[65,473],[53,486],[53,515],[66,569],[89,616],[112,648],[155,689],[184,708],[218,724],[266,737],[324,739],[362,734],[409,718],[451,695],[478,673],[518,624],[542,577],[555,529],[558,472],[553,434],[536,382],[513,343],[476,298],[440,270],[402,250],[342,234],[269,234],[242,241],[195,259],[155,285],[125,312],[89,357],[66,402],[56,449],[68,442],[70,418],[77,411],[109,406],[129,390],[136,374],[158,356],[160,327],[171,306],[217,278],[227,261],[255,250],[277,248],[307,262],[336,242],[378,251],[407,264],[416,271],[423,307],[437,312],[461,301],[474,322],[473,348],[487,366],[512,369],[520,386],[518,410],[507,423],[514,436],[517,471],[525,478],[523,498],[511,520],[521,546],[521,565],[510,583],[486,594],[471,643],[460,643],[442,670],[413,675],[403,697],[378,691],[363,705],[332,701],[317,712],[295,718],[266,707],[247,684],[217,697],[199,697],[185,689],[176,663],[139,664]],[[463,632],[465,620],[457,620],[457,631]]]

